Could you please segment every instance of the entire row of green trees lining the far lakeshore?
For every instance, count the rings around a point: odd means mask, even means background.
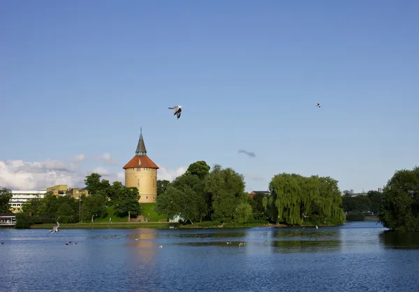
[[[140,196],[136,187],[124,187],[122,182],[101,180],[92,173],[84,180],[89,196],[80,200],[70,194],[34,198],[22,206],[24,212],[51,215],[63,223],[80,219],[94,221],[104,217],[107,207],[113,206],[118,217],[141,213]],[[388,180],[383,193],[369,191],[365,196],[351,197],[348,191],[340,195],[337,180],[331,177],[281,173],[269,184],[270,194],[249,198],[244,191],[243,175],[232,168],[205,161],[196,161],[172,182],[157,182],[155,210],[168,219],[179,216],[184,224],[203,221],[269,222],[298,225],[341,224],[346,212],[377,212],[383,226],[394,231],[419,231],[419,167],[398,170]],[[0,212],[10,212],[11,191],[0,187]]]

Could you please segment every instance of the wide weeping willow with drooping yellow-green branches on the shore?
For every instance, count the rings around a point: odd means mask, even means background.
[[[315,218],[341,224],[345,220],[337,180],[331,177],[282,173],[272,178],[269,189],[267,205],[276,211],[270,214],[272,221],[302,224],[304,218]]]

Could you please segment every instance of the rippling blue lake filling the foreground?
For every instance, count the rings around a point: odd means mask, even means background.
[[[385,230],[0,229],[0,290],[418,291],[418,234]]]

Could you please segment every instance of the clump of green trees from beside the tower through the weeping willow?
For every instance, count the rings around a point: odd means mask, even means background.
[[[156,210],[201,221],[341,224],[345,220],[337,180],[330,177],[275,175],[270,194],[249,198],[243,175],[205,161],[192,163],[173,182],[159,181]]]

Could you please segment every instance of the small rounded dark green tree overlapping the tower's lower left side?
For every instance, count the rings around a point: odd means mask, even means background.
[[[141,212],[138,200],[140,200],[140,195],[138,195],[137,187],[124,187],[115,198],[115,214],[123,217],[128,213],[128,222],[131,221],[131,212],[135,214]]]

